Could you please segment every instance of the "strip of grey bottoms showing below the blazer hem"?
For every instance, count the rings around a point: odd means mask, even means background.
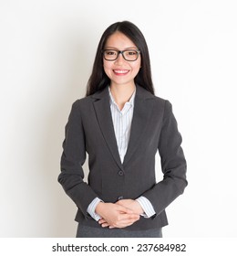
[[[162,238],[162,229],[126,230],[91,228],[78,224],[77,238]]]

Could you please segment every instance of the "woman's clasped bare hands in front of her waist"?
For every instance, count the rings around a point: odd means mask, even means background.
[[[101,217],[98,223],[102,228],[126,228],[139,220],[143,209],[139,202],[132,199],[119,200],[113,203],[98,203],[96,212]]]

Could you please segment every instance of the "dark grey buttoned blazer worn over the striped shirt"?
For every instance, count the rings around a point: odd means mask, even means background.
[[[99,227],[88,213],[95,197],[105,202],[147,197],[156,215],[126,229],[155,229],[168,224],[165,208],[187,186],[186,160],[171,104],[137,85],[129,146],[120,162],[108,88],[74,102],[70,112],[58,181],[77,205],[76,220]],[[163,179],[156,183],[159,151]],[[82,165],[88,153],[88,183]]]

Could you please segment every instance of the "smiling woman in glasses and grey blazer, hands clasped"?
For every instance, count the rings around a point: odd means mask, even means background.
[[[162,237],[165,208],[187,186],[180,144],[170,102],[154,95],[145,38],[128,21],[112,24],[99,41],[87,97],[72,106],[63,144],[58,181],[77,205],[77,237]]]

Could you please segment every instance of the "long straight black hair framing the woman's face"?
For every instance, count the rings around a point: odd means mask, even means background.
[[[142,35],[139,27],[129,21],[122,21],[110,25],[100,38],[92,73],[88,80],[87,96],[103,90],[110,83],[110,80],[103,68],[102,50],[107,43],[108,37],[117,31],[123,33],[126,37],[129,37],[136,47],[139,48],[141,55],[141,68],[134,79],[135,83],[154,94],[153,83],[151,80],[149,49],[145,37]]]

